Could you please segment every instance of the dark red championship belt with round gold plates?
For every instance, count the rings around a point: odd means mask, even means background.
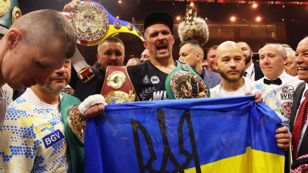
[[[101,95],[107,104],[139,101],[124,66],[108,66]]]

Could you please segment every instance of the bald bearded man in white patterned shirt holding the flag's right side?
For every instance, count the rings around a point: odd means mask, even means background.
[[[268,85],[255,82],[243,77],[245,72],[245,58],[243,51],[236,42],[223,42],[216,50],[216,60],[214,66],[221,75],[221,83],[210,89],[211,97],[240,96],[244,92],[259,90],[265,103],[275,111],[282,119],[282,125],[276,130],[277,145],[280,148],[288,149],[290,146],[290,134],[288,120],[282,115],[275,91]]]

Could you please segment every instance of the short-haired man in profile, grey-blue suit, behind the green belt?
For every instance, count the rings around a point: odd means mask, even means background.
[[[217,86],[221,82],[221,76],[218,73],[205,70],[202,67],[204,57],[203,47],[197,41],[186,41],[180,44],[179,60],[188,63],[200,75],[209,89]]]

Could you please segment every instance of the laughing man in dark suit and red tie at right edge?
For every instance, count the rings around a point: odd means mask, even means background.
[[[290,117],[290,132],[292,133],[292,158],[296,159],[308,154],[308,38],[298,43],[296,49],[296,63],[298,78],[302,82],[294,92],[293,107]],[[301,163],[304,164],[304,163]],[[303,169],[304,170],[304,169]],[[306,169],[307,171],[307,169]]]

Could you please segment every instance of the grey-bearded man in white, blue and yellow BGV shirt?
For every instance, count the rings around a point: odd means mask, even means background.
[[[76,126],[68,123],[71,115],[77,115],[70,112],[78,110],[80,101],[61,92],[70,78],[69,59],[44,86],[27,88],[10,105],[0,138],[0,157],[6,158],[0,159],[0,170],[83,172],[83,143],[79,141],[83,139],[74,135],[71,128]]]

